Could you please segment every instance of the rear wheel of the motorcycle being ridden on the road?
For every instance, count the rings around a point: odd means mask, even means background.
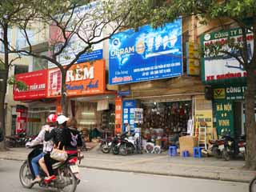
[[[59,192],[74,192],[76,190],[78,185],[77,178],[70,168],[64,167],[62,170],[58,170],[58,179],[65,183],[65,186],[57,186]]]

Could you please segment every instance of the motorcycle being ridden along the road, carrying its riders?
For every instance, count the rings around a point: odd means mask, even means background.
[[[38,154],[42,153],[42,145],[34,146],[34,150],[28,154],[28,158],[25,162],[22,163],[22,166],[19,170],[19,179],[22,183],[22,186],[30,189],[34,186],[35,183],[32,181],[34,180],[34,170],[31,166],[32,158],[36,157]],[[80,158],[81,160],[81,158]],[[39,182],[39,186],[42,187],[54,187],[58,191],[67,191],[67,192],[74,192],[77,188],[78,183],[80,182],[78,178],[78,166],[76,162],[78,161],[77,157],[70,156],[67,158],[66,162],[57,162],[53,165],[54,174],[56,175],[56,179],[53,181],[46,183],[42,179]],[[42,170],[39,171],[41,178],[45,178],[46,175]]]

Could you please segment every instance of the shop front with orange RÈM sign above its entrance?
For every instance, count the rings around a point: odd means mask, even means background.
[[[106,90],[105,69],[105,60],[97,60],[75,64],[66,74],[69,116],[78,120],[78,128],[89,140],[102,137],[105,133],[114,134],[116,92]],[[56,98],[58,102],[61,78],[58,68],[49,70],[48,97]]]

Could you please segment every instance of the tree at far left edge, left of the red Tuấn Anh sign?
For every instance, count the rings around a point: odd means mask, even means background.
[[[14,65],[14,62],[20,58],[19,55],[14,54],[14,47],[10,45],[10,39],[8,37],[8,30],[11,26],[17,24],[21,19],[26,18],[25,15],[28,15],[25,11],[28,7],[26,0],[18,1],[8,1],[2,0],[0,2],[0,44],[2,45],[2,52],[0,53],[0,72],[1,72],[1,81],[0,81],[0,129],[2,129],[2,134],[5,137],[6,135],[6,122],[5,122],[5,98],[6,98],[6,87],[8,84],[9,70],[10,67]],[[32,13],[31,13],[32,14]],[[24,84],[10,79],[11,84],[18,83],[19,87],[26,89]],[[4,142],[3,142],[4,143]],[[5,145],[3,145],[5,148]]]

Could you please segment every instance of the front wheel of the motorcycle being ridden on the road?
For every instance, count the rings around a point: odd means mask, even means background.
[[[22,183],[22,186],[30,189],[34,184],[33,176],[30,172],[30,168],[27,162],[24,162],[19,170],[19,181]]]

